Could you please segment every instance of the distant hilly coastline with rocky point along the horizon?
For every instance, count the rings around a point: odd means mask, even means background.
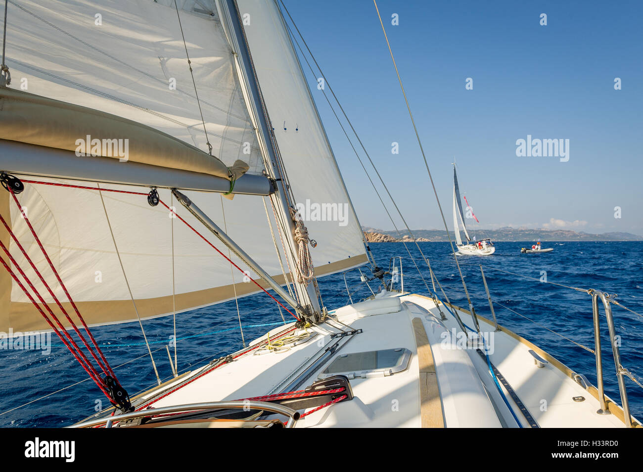
[[[413,241],[408,231],[400,231],[402,238],[397,231],[379,230],[362,226],[362,231],[368,242],[401,242]],[[449,241],[444,230],[412,230],[417,241]],[[469,231],[473,237],[472,231]],[[450,232],[451,239],[455,238],[453,231]],[[500,228],[499,230],[476,230],[475,235],[480,239],[491,238],[491,241],[643,241],[643,236],[632,233],[601,233],[591,234],[584,231],[576,232],[569,230],[535,230],[531,228]]]

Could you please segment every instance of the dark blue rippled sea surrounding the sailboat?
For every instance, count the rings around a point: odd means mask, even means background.
[[[462,284],[447,242],[419,243],[431,260],[433,271],[454,304],[466,307]],[[497,242],[491,257],[458,257],[473,305],[482,316],[491,317],[480,264],[483,265],[498,322],[547,350],[568,367],[596,383],[595,358],[570,340],[593,349],[592,303],[586,293],[540,282],[618,294],[617,300],[643,313],[643,242],[544,242],[552,253],[521,254],[531,242]],[[428,268],[415,244],[407,244],[422,276],[431,287]],[[388,268],[390,257],[403,257],[404,289],[428,295],[424,282],[403,243],[370,244],[380,266]],[[312,250],[314,251],[314,250]],[[518,275],[502,272],[509,271]],[[520,277],[523,276],[523,277]],[[536,280],[533,280],[536,279]],[[323,302],[329,309],[358,302],[370,295],[359,282],[359,272],[334,274],[320,279]],[[371,287],[377,290],[376,282]],[[442,298],[438,289],[438,294]],[[501,305],[504,305],[501,306]],[[531,322],[509,309],[520,313]],[[240,300],[241,322],[246,342],[283,323],[276,304],[265,293]],[[613,307],[621,358],[638,379],[643,379],[643,318]],[[285,313],[284,316],[290,316]],[[601,307],[603,369],[606,393],[619,401],[615,367]],[[289,321],[286,318],[286,321]],[[538,323],[538,324],[537,324]],[[215,305],[176,316],[179,373],[242,347],[235,302]],[[543,328],[544,325],[551,331]],[[172,316],[143,322],[162,380],[172,377],[166,346],[173,334]],[[553,331],[553,332],[552,332]],[[92,329],[96,340],[122,385],[131,396],[156,385],[147,348],[138,323]],[[564,336],[564,337],[561,337]],[[0,350],[0,426],[66,426],[109,406],[96,385],[53,336],[50,354],[39,350]],[[170,347],[174,355],[174,348]],[[643,390],[626,379],[631,413],[643,419]],[[257,392],[262,394],[264,392]]]

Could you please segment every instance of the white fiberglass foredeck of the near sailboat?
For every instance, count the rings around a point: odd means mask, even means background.
[[[392,374],[388,372],[387,375],[377,371],[368,374],[356,372],[358,376],[349,373],[354,394],[352,400],[322,408],[300,419],[295,426],[421,427],[428,424],[426,410],[427,404],[431,403],[433,426],[515,428],[518,427],[515,415],[521,426],[530,427],[509,392],[503,389],[514,415],[509,411],[489,374],[487,362],[480,357],[475,347],[467,347],[466,342],[465,349],[462,349],[462,345],[458,347],[455,338],[452,338],[453,334],[460,331],[457,329],[457,322],[444,305],[441,305],[441,309],[446,314],[445,320],[441,319],[438,308],[430,298],[399,294],[386,294],[375,300],[342,307],[330,312],[329,322],[309,328],[312,336],[300,341],[292,349],[281,352],[262,351],[262,354],[248,352],[210,372],[207,372],[208,367],[195,370],[174,383],[179,385],[190,377],[207,373],[167,394],[152,406],[158,408],[237,400],[285,392],[293,390],[293,381],[296,379],[300,381],[299,385],[295,385],[296,388],[302,389],[318,380],[321,372],[338,356],[408,349],[410,361],[404,370]],[[465,325],[473,326],[469,314],[460,310],[458,314]],[[426,332],[430,352],[425,354],[432,358],[431,372],[435,372],[428,374],[428,378],[434,379],[434,383],[437,378],[435,390],[422,390],[426,389],[426,385],[421,386],[420,382],[421,356],[418,356],[417,348],[420,341],[417,332],[414,333],[413,320],[416,331],[423,328]],[[599,403],[589,391],[593,387],[586,390],[576,383],[570,377],[570,371],[557,363],[556,359],[550,358],[545,352],[511,332],[494,332],[493,325],[484,319],[480,323],[485,341],[491,348],[491,363],[515,390],[538,426],[624,426],[622,419],[616,414],[597,414]],[[361,332],[332,337],[332,334],[349,331],[346,325],[350,329],[361,329]],[[287,327],[293,325],[273,330],[271,337]],[[316,365],[309,377],[302,377],[302,372],[334,343],[337,343],[334,354]],[[550,361],[538,368],[534,364],[534,357],[529,353],[530,349],[536,350],[540,356]],[[163,385],[162,388],[167,391],[168,388],[171,390],[171,386],[172,383],[169,386]],[[150,390],[142,398],[152,398],[158,392],[159,389]],[[427,397],[427,392],[433,392],[433,397]],[[424,398],[424,406],[421,404],[421,397]],[[574,397],[584,397],[584,401],[574,401]],[[435,421],[439,424],[435,424]]]

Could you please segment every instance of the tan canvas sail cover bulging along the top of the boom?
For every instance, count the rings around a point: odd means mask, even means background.
[[[242,161],[228,169],[185,141],[126,118],[6,87],[0,87],[0,138],[228,179],[248,170]]]

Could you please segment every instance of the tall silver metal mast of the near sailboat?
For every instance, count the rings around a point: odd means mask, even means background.
[[[313,284],[298,282],[296,274],[293,273],[298,266],[299,257],[297,252],[298,243],[294,239],[296,224],[291,216],[291,208],[294,208],[294,201],[289,201],[287,177],[282,172],[282,163],[276,147],[276,140],[272,131],[273,127],[269,116],[267,116],[267,110],[253,66],[248,42],[246,41],[237,2],[235,0],[216,0],[216,4],[219,12],[222,14],[220,16],[222,18],[226,17],[229,20],[230,28],[229,30],[226,28],[226,33],[228,33],[230,42],[234,48],[234,59],[237,68],[240,69],[239,78],[246,86],[242,87],[242,93],[244,93],[246,103],[249,108],[251,108],[251,116],[256,120],[255,131],[257,132],[257,138],[262,155],[264,156],[266,171],[269,177],[275,182],[276,192],[270,195],[270,199],[277,213],[277,224],[280,225],[282,233],[285,235],[284,243],[286,248],[284,252],[288,265],[291,268],[293,286],[298,301],[303,307],[303,311],[307,312],[312,321],[315,321],[320,319],[321,316],[320,303],[315,291],[316,282]]]

